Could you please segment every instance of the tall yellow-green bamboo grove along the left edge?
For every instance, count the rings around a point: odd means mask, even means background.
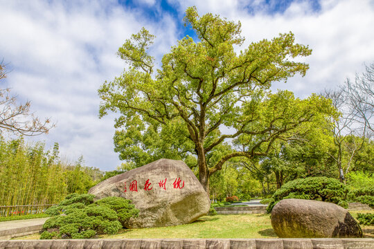
[[[59,147],[45,150],[42,142],[0,138],[0,205],[59,203],[67,194],[85,193],[103,175],[98,169],[63,162]]]

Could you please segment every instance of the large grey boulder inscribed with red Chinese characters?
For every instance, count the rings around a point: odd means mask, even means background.
[[[89,190],[96,199],[120,196],[132,200],[139,217],[126,228],[153,228],[191,223],[211,206],[204,188],[186,163],[160,159],[108,178]]]

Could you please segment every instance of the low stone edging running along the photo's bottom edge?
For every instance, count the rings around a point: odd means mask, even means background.
[[[374,248],[374,239],[60,239],[0,241],[5,248],[317,249]]]

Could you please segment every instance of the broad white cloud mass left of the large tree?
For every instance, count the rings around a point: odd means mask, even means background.
[[[126,10],[116,2],[0,1],[0,56],[12,71],[6,84],[31,100],[39,117],[57,127],[33,138],[48,146],[60,143],[62,154],[89,166],[111,170],[120,164],[114,153],[114,117],[98,119],[97,89],[112,80],[125,64],[118,47],[142,26],[158,34],[153,53],[175,41],[175,24],[165,15],[159,24]]]

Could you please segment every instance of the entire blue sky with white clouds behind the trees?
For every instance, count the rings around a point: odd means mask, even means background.
[[[170,46],[193,30],[184,26],[184,11],[196,6],[242,24],[243,48],[292,31],[297,43],[313,52],[305,77],[274,82],[299,98],[335,89],[347,77],[374,62],[373,0],[0,0],[0,61],[19,103],[31,102],[40,118],[56,124],[48,134],[26,140],[60,145],[62,158],[84,157],[85,165],[114,170],[121,161],[114,152],[116,113],[99,119],[97,90],[121,75],[126,64],[116,51],[145,27],[156,35],[150,53],[160,62]]]

